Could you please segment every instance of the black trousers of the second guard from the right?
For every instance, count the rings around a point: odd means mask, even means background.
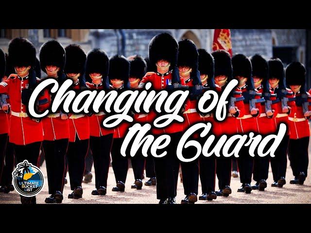
[[[275,157],[270,158],[274,181],[278,181],[278,179],[286,175],[288,142],[289,135],[285,135],[276,149]]]

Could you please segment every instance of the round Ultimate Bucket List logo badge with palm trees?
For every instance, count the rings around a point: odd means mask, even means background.
[[[24,197],[33,197],[43,188],[44,176],[42,171],[28,163],[27,160],[17,164],[12,176],[15,190]]]

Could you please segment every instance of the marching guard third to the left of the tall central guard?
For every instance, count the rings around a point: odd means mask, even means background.
[[[109,90],[109,58],[104,50],[93,49],[86,58],[86,86],[90,90]],[[95,189],[92,195],[105,195],[110,165],[110,151],[114,129],[101,127],[105,113],[89,116],[89,147],[92,151],[95,169]]]

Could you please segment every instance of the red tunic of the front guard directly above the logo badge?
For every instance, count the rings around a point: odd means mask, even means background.
[[[26,116],[27,106],[21,102],[21,91],[28,88],[28,77],[7,79],[0,83],[0,93],[10,95],[11,120],[10,142],[16,145],[27,145],[43,141],[42,122],[36,122]],[[14,116],[18,114],[19,116]]]

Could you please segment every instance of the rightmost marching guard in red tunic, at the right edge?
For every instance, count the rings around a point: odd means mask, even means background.
[[[303,184],[308,175],[311,114],[311,95],[306,92],[306,68],[300,62],[292,62],[286,67],[285,77],[295,99],[288,116],[291,132],[288,154],[294,175],[290,183]]]

